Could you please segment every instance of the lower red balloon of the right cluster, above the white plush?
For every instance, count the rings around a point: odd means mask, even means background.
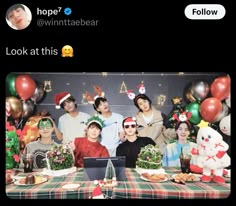
[[[215,97],[205,99],[200,105],[200,114],[206,122],[213,122],[222,111],[222,103]]]

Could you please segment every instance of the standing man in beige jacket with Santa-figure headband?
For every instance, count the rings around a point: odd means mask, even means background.
[[[152,138],[163,153],[166,144],[172,138],[168,136],[168,133],[163,135],[166,129],[164,126],[165,115],[152,106],[152,101],[146,94],[138,94],[133,102],[139,110],[135,115],[139,125],[138,136]]]

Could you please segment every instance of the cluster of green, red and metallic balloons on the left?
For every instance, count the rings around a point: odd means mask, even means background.
[[[14,120],[28,118],[35,111],[35,104],[45,97],[44,85],[29,75],[10,73],[6,77],[7,116]]]

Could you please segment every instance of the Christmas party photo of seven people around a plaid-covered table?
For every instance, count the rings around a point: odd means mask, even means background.
[[[8,199],[227,199],[225,72],[11,72]]]

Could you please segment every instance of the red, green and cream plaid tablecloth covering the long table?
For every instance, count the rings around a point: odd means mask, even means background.
[[[179,173],[177,168],[165,168],[171,176]],[[6,185],[6,195],[10,199],[89,199],[95,185],[93,181],[82,181],[83,170],[61,177],[49,177],[48,181],[33,186]],[[230,183],[203,183],[201,181],[176,184],[170,180],[162,183],[146,182],[135,169],[126,168],[127,181],[118,186],[103,188],[103,193],[112,199],[219,199],[230,195]],[[62,188],[69,183],[79,183],[75,191]]]

